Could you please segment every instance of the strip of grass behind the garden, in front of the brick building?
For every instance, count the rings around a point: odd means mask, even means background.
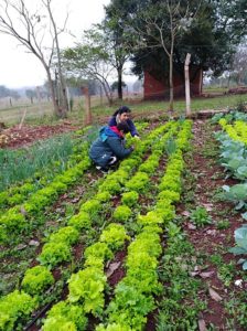
[[[193,98],[191,100],[191,108],[193,113],[205,109],[226,109],[237,107],[240,103],[247,103],[247,95],[224,95],[217,97],[207,98]],[[133,114],[137,115],[151,115],[158,110],[169,109],[168,100],[152,100],[142,102],[137,98],[126,98],[121,103],[115,102],[114,106],[108,106],[106,99],[100,100],[99,97],[92,97],[92,110],[94,122],[98,122],[99,119],[110,116],[120,105],[127,105],[132,109]],[[52,114],[51,103],[43,103],[40,106],[29,105],[26,108],[26,116],[24,122],[26,124],[55,124],[57,119]],[[0,110],[0,121],[6,125],[13,125],[21,121],[24,109],[22,107],[14,107],[10,109]],[[176,115],[183,115],[185,111],[185,100],[180,99],[174,102],[174,110]],[[74,100],[73,111],[68,113],[68,119],[77,124],[84,122],[84,98],[77,98]]]

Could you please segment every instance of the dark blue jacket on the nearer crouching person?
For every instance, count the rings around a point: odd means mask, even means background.
[[[125,159],[131,153],[131,148],[125,148],[125,139],[110,127],[103,127],[99,137],[89,149],[90,159],[100,167],[107,167],[111,157]]]

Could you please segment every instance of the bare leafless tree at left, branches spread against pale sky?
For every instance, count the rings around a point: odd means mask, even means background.
[[[57,103],[56,92],[52,78],[52,63],[54,54],[60,58],[58,35],[64,32],[66,20],[62,29],[57,29],[52,0],[40,0],[39,8],[31,10],[24,0],[1,0],[0,4],[0,33],[14,38],[29,52],[42,63],[51,89],[54,113],[57,117],[66,117],[67,100],[64,94],[63,74],[58,62],[60,82],[62,86],[63,102]],[[44,45],[47,42],[50,46]]]

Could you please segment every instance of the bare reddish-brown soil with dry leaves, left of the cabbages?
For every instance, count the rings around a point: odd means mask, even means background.
[[[208,210],[208,214],[213,218],[213,224],[204,227],[197,227],[196,229],[191,228],[190,222],[184,223],[184,232],[187,234],[190,242],[194,245],[196,252],[200,252],[207,256],[205,265],[207,265],[206,271],[213,271],[213,275],[206,278],[204,281],[207,288],[213,288],[223,300],[214,300],[208,291],[200,293],[202,300],[207,301],[207,310],[202,312],[202,319],[208,327],[211,323],[216,330],[228,330],[227,329],[227,312],[224,308],[224,301],[229,298],[229,292],[237,292],[236,286],[232,284],[229,287],[225,287],[223,281],[218,278],[218,270],[212,265],[210,257],[213,254],[218,254],[221,248],[227,248],[234,246],[234,231],[241,224],[240,213],[230,213],[234,206],[228,202],[213,200],[213,193],[216,189],[219,189],[224,184],[233,185],[237,181],[233,179],[225,180],[223,168],[219,167],[214,157],[205,157],[203,154],[203,148],[212,139],[211,132],[205,130],[203,121],[194,122],[194,139],[193,139],[193,162],[189,166],[192,173],[197,177],[196,190],[195,190],[195,206],[204,206]],[[185,193],[186,194],[186,193]],[[226,215],[222,216],[221,212],[226,211]],[[180,213],[183,214],[184,211]],[[228,212],[228,213],[227,213]],[[218,229],[217,222],[222,220],[229,221],[229,227],[226,229]],[[233,254],[223,254],[225,264],[236,261],[236,257]],[[236,266],[236,268],[238,268]],[[240,267],[238,268],[240,269]],[[244,330],[240,327],[235,325],[235,330]]]

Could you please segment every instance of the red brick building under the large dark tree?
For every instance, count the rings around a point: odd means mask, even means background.
[[[203,71],[196,66],[190,66],[191,96],[200,96],[203,86]],[[183,97],[185,95],[184,77],[179,74],[173,75],[174,97]],[[165,99],[169,98],[169,79],[158,79],[152,75],[151,71],[144,72],[143,82],[144,99]]]

